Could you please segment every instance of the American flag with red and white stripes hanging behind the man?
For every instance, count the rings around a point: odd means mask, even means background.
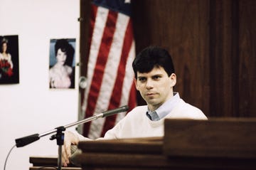
[[[84,118],[128,105],[137,105],[132,60],[135,57],[130,2],[92,1],[87,87],[82,100]],[[82,134],[104,136],[127,112],[83,124]]]

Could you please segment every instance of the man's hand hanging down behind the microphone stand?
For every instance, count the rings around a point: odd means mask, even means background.
[[[68,166],[70,163],[69,158],[71,156],[71,144],[78,145],[79,138],[76,134],[70,131],[66,131],[64,135],[64,144],[62,147],[62,155],[61,155],[61,160],[63,166]]]

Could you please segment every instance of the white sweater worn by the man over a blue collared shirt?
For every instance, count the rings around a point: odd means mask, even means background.
[[[182,99],[169,115],[158,121],[151,121],[146,116],[147,105],[135,107],[120,120],[112,129],[106,132],[103,139],[122,139],[134,137],[163,137],[164,119],[207,119],[197,107],[193,107]],[[87,139],[79,135],[80,139]],[[102,138],[100,138],[102,139]]]

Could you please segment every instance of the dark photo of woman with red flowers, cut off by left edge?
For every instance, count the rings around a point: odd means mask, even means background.
[[[18,36],[0,36],[0,84],[19,83]]]

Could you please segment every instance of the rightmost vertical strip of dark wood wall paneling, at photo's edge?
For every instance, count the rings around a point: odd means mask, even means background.
[[[256,1],[239,1],[239,115],[256,117]]]

